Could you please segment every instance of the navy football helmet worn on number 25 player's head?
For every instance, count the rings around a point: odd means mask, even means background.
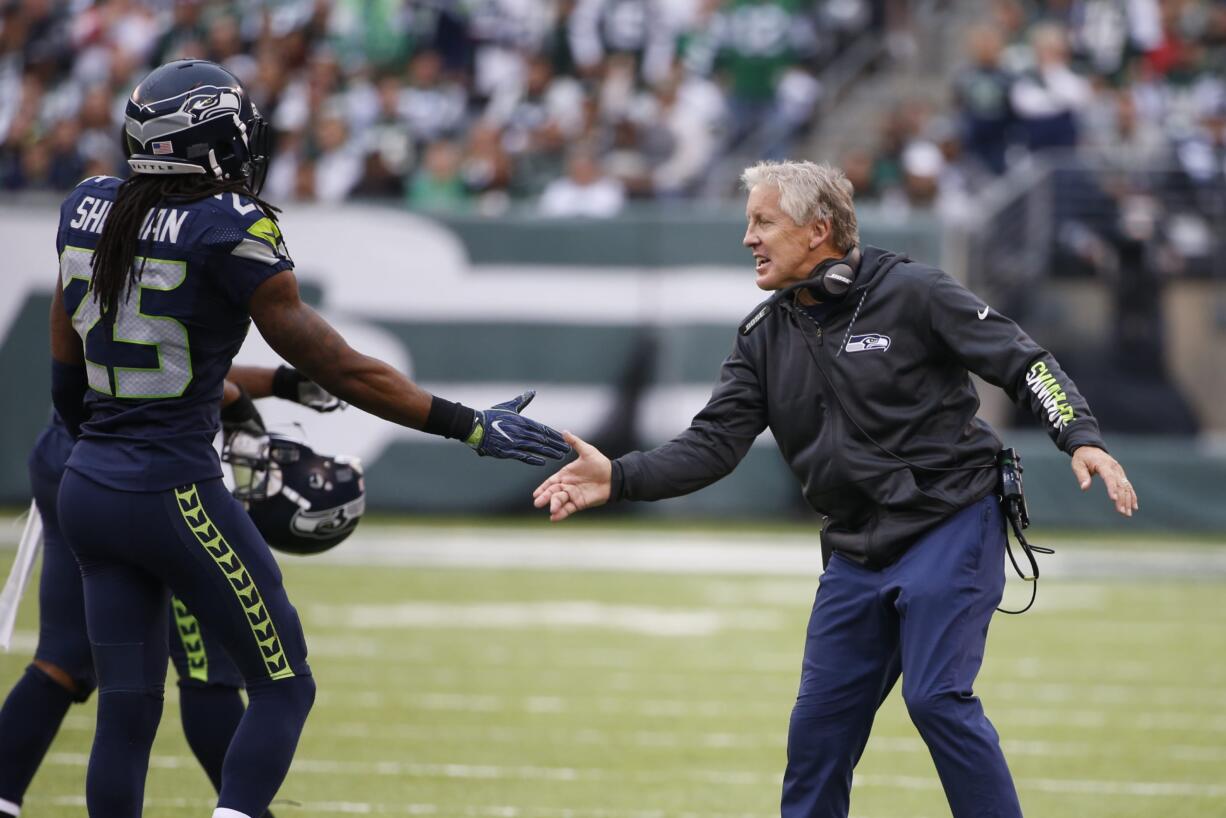
[[[207,60],[153,69],[124,112],[124,147],[134,172],[245,179],[253,194],[267,174],[268,132],[238,77]]]

